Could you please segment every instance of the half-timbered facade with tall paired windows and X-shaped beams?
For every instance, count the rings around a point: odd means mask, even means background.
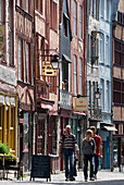
[[[18,95],[18,157],[30,169],[34,133],[34,1],[15,1],[15,53]]]

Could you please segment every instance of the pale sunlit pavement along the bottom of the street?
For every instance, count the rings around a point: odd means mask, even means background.
[[[12,175],[10,175],[12,177]],[[83,172],[78,172],[78,176],[75,182],[65,182],[64,173],[60,173],[51,176],[51,182],[46,182],[46,180],[36,178],[35,182],[29,181],[29,176],[24,177],[24,181],[0,181],[0,185],[39,185],[39,184],[49,184],[49,185],[124,185],[124,173],[120,172],[110,172],[110,171],[100,171],[98,173],[98,180],[95,182],[84,182]]]

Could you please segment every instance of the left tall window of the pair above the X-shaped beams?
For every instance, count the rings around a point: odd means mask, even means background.
[[[22,50],[22,48],[23,48],[23,45],[22,45],[22,40],[21,39],[18,39],[18,81],[21,81],[22,79],[22,64],[23,64],[23,57],[22,57],[22,54],[23,54],[23,50]]]

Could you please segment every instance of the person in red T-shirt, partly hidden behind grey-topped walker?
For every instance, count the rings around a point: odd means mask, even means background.
[[[95,153],[95,178],[97,180],[97,173],[99,171],[100,159],[102,159],[102,147],[101,147],[101,137],[96,135],[97,128],[95,126],[90,126],[92,131],[92,138],[96,143],[96,153]]]

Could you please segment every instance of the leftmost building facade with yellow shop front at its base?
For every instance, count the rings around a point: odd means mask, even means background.
[[[0,141],[17,155],[14,1],[0,1]]]

